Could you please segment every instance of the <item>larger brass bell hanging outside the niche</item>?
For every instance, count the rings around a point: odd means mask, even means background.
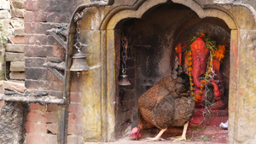
[[[80,50],[78,50],[78,52],[76,54],[74,54],[72,57],[73,64],[70,68],[70,71],[78,72],[78,77],[79,77],[79,73],[81,71],[87,71],[90,69],[90,67],[87,65],[85,58],[86,57],[85,57],[84,53],[81,52]]]

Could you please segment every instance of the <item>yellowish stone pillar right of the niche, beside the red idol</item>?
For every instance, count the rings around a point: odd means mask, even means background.
[[[237,67],[237,76],[236,72],[230,75],[237,80],[230,81],[230,142],[253,144],[256,143],[256,31],[240,30],[238,37],[237,55],[233,55],[237,61],[230,64]]]

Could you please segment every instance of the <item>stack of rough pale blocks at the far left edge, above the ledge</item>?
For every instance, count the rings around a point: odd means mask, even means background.
[[[4,24],[4,35],[9,37],[1,49],[1,58],[5,60],[1,59],[1,80],[25,80],[24,1],[8,0],[1,3],[1,23]]]

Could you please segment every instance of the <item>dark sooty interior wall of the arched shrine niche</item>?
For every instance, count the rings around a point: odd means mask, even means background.
[[[127,55],[125,56],[128,57],[126,60],[126,73],[131,82],[129,86],[122,86],[116,81],[116,134],[119,135],[124,135],[127,126],[131,125],[132,117],[137,111],[137,99],[139,96],[157,84],[161,78],[171,75],[175,58],[177,58],[175,52],[177,43],[185,43],[184,45],[186,45],[186,43],[189,43],[189,38],[205,33],[218,43],[224,44],[227,48],[226,50],[230,51],[230,28],[225,24],[224,20],[214,17],[201,19],[192,9],[177,3],[158,4],[148,9],[139,19],[126,18],[120,20],[115,27],[115,31],[118,32],[116,37],[120,38],[120,43],[117,43],[120,46],[117,45],[115,51],[117,60],[115,78],[118,80],[119,75],[122,75],[121,60],[124,52],[124,46],[122,45],[125,37],[128,41],[128,43],[125,43],[127,45]],[[189,47],[188,44],[187,46]],[[183,49],[183,52],[185,50]],[[229,53],[225,55],[220,70],[219,77],[221,79],[219,80],[224,81],[222,85],[224,86],[222,102],[225,106],[215,109],[223,112],[222,116],[227,119],[230,84]],[[213,96],[210,102],[211,105],[214,103]],[[202,112],[205,107],[207,106],[198,108],[197,111]],[[207,108],[210,109],[212,107]],[[214,115],[212,117],[218,116],[218,113],[214,113],[216,111],[211,112]],[[200,124],[203,118],[195,118],[195,120],[200,121],[196,122]],[[128,127],[128,129],[131,128]],[[175,132],[177,133],[177,131]]]

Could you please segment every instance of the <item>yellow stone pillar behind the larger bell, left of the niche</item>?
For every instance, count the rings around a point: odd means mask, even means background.
[[[82,114],[84,141],[102,141],[102,53],[100,31],[83,30],[81,43],[88,46],[82,50],[90,67],[80,76],[82,91]]]

